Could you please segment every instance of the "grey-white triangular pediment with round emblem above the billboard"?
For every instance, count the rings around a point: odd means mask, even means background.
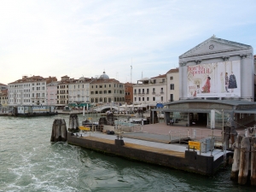
[[[228,52],[234,50],[241,50],[241,49],[251,49],[252,47],[247,44],[239,44],[236,42],[224,40],[222,38],[208,38],[206,41],[198,44],[192,49],[189,49],[183,55],[180,55],[179,58],[186,58],[190,56],[196,55],[208,55],[220,52]]]

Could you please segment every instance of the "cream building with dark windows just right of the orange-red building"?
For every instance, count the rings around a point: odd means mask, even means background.
[[[137,84],[133,85],[134,104],[156,106],[157,103],[167,102],[166,85],[166,74],[137,80]]]

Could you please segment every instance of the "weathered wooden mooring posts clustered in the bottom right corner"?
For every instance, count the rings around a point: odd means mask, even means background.
[[[256,137],[238,135],[234,148],[231,180],[256,185]]]

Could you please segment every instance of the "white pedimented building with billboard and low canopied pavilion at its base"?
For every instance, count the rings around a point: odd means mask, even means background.
[[[179,56],[179,86],[179,101],[166,103],[163,110],[166,123],[175,119],[175,125],[236,128],[256,118],[250,45],[208,38]]]

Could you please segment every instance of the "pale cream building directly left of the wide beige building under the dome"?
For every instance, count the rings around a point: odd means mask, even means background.
[[[81,77],[77,81],[69,84],[68,101],[77,104],[90,102],[90,81],[91,79]]]

